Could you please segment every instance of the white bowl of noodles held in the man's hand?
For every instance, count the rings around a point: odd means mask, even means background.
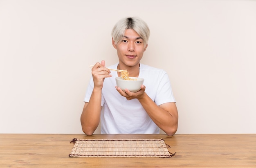
[[[144,82],[143,78],[137,78],[137,77],[129,77],[131,79],[136,80],[124,80],[121,77],[116,77],[116,83],[117,87],[120,87],[121,90],[124,91],[124,89],[128,89],[130,92],[138,92],[140,90],[141,85]]]

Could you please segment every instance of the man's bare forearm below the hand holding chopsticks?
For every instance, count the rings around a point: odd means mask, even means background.
[[[86,135],[92,135],[100,122],[101,89],[93,89],[90,101],[85,103],[81,114],[82,130]]]

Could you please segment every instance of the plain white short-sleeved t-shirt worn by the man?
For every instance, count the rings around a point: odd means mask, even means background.
[[[118,63],[108,68],[117,69]],[[101,133],[102,134],[159,134],[160,129],[150,119],[137,99],[127,100],[115,89],[117,72],[105,78],[101,94]],[[145,92],[157,104],[175,102],[168,74],[140,64],[139,77],[144,78]],[[89,102],[94,87],[91,78],[84,102]]]

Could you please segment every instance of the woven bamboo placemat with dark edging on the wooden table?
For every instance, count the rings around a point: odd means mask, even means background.
[[[70,157],[172,157],[163,139],[73,139]],[[71,143],[70,142],[70,143]]]

